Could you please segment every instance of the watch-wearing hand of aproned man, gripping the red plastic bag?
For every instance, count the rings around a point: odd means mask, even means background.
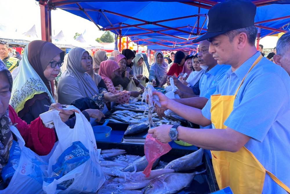
[[[161,141],[162,143],[171,142],[169,131],[173,125],[160,125],[148,130],[148,133],[152,133],[152,137]]]

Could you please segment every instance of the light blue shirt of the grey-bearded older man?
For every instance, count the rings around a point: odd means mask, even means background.
[[[224,77],[226,71],[230,68],[230,65],[215,65],[213,68],[206,69],[202,74],[199,82],[200,97],[209,99],[215,92],[219,81]],[[210,129],[209,126],[200,126],[200,129]]]

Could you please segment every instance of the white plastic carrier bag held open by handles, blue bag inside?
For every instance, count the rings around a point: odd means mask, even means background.
[[[70,106],[66,109],[76,109]],[[78,110],[79,111],[79,110]],[[66,148],[75,141],[80,141],[88,149],[90,158],[80,166],[68,172],[58,180],[51,183],[43,182],[43,190],[48,194],[54,193],[95,193],[105,181],[104,173],[101,169],[97,153],[97,145],[92,126],[86,117],[80,113],[75,113],[75,127],[70,129],[59,117],[59,111],[53,113],[52,119],[55,130],[59,139],[59,143],[54,153],[49,159],[48,175],[52,173],[52,165],[54,165]],[[63,181],[74,179],[73,183],[66,190],[57,190],[57,184]]]

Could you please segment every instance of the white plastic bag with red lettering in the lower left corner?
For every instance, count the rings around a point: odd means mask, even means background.
[[[25,142],[16,127],[11,126],[10,129],[18,139],[21,156],[19,161],[14,161],[15,166],[18,162],[18,166],[8,187],[0,190],[0,193],[44,193],[42,183],[44,177],[47,177],[48,164],[39,155],[24,146]]]

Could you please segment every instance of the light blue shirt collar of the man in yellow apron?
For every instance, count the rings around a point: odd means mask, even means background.
[[[232,73],[234,73],[239,80],[242,80],[246,74],[248,73],[249,69],[253,65],[253,63],[256,61],[256,59],[260,56],[260,52],[257,51],[253,56],[251,56],[247,61],[245,61],[238,69],[236,69],[234,72],[232,71],[232,68],[230,68],[226,72],[226,76],[230,76]]]

